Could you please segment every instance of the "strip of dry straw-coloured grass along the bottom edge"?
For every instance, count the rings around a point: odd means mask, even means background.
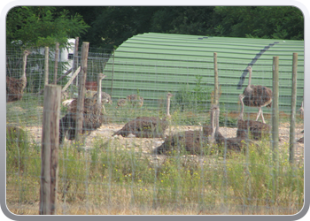
[[[39,202],[29,204],[9,204],[8,209],[16,215],[39,215]],[[58,204],[56,215],[294,215],[299,210],[283,210],[274,207],[258,207],[252,210],[236,206],[221,207],[221,209],[199,210],[198,205],[188,208],[171,207],[153,209],[151,207],[133,207],[125,205],[97,206],[89,203],[74,203],[74,205]]]

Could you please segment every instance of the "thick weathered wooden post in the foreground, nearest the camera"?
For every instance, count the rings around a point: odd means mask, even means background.
[[[61,87],[46,85],[43,103],[40,215],[56,213]]]

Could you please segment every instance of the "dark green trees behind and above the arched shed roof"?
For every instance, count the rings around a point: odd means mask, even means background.
[[[116,49],[148,32],[302,40],[304,18],[291,6],[110,6],[59,7],[78,12],[91,27],[90,45]],[[167,22],[169,21],[169,22]]]

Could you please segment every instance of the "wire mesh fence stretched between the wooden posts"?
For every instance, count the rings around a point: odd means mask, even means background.
[[[44,86],[44,56],[42,49],[31,51],[27,57],[24,95],[21,100],[6,105],[6,202],[15,214],[39,212],[43,95],[38,92]],[[49,82],[54,74],[52,51]],[[7,49],[7,76],[18,79],[21,75],[22,53],[19,49]],[[162,72],[179,72],[179,66],[164,66],[157,74],[153,70],[163,66],[143,64],[141,69],[142,64],[117,64],[117,58],[121,57],[117,56],[117,52],[113,54],[111,50],[89,49],[87,82],[97,82],[97,74],[104,72],[102,89],[112,95],[112,103],[104,103],[103,124],[99,128],[82,136],[81,141],[68,140],[67,135],[60,146],[57,214],[269,215],[295,214],[302,209],[304,144],[296,142],[296,163],[290,164],[291,77],[286,67],[280,65],[281,77],[287,80],[281,85],[279,161],[275,164],[270,133],[259,141],[244,140],[243,149],[229,149],[227,141],[226,145],[225,141],[224,145],[216,145],[216,141],[212,144],[205,139],[204,128],[215,122],[215,129],[217,120],[218,132],[226,138],[236,138],[242,107],[238,94],[243,90],[236,93],[236,84],[231,82],[236,81],[236,77],[230,74],[241,72],[234,69],[237,60],[229,61],[235,65],[219,62],[220,113],[214,113],[213,121],[212,59],[201,62],[196,76],[185,74],[182,79],[179,77],[180,81],[169,81],[169,75]],[[81,54],[78,57],[81,58]],[[59,77],[71,68],[70,60],[59,62]],[[185,69],[190,63],[180,61]],[[117,65],[121,69],[116,69]],[[263,65],[255,66],[260,72],[256,78],[270,87],[272,78],[264,77]],[[145,73],[143,77],[139,68]],[[65,86],[70,76],[58,85]],[[77,98],[76,85],[66,92],[69,93],[62,102]],[[167,98],[168,92],[174,96]],[[128,97],[132,94],[136,94],[133,99]],[[120,99],[124,104],[119,103]],[[271,126],[271,118],[265,110],[263,108],[267,125]],[[68,106],[61,105],[60,118],[68,111]],[[244,119],[255,120],[257,111],[244,107]],[[149,128],[149,137],[140,138],[135,136],[135,131],[140,130],[143,123],[136,121],[128,127],[132,131],[127,136],[115,134],[137,117],[145,117],[146,121],[155,118],[159,125],[166,126],[165,130],[158,131],[154,126]],[[297,114],[296,140],[303,137],[302,130],[303,118]],[[156,151],[168,141],[171,141],[171,149],[165,154]],[[203,151],[189,151],[187,141]]]

